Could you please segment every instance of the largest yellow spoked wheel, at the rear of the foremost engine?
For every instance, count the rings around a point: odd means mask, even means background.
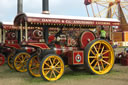
[[[114,51],[105,40],[93,40],[85,48],[85,65],[94,74],[106,74],[114,65]]]

